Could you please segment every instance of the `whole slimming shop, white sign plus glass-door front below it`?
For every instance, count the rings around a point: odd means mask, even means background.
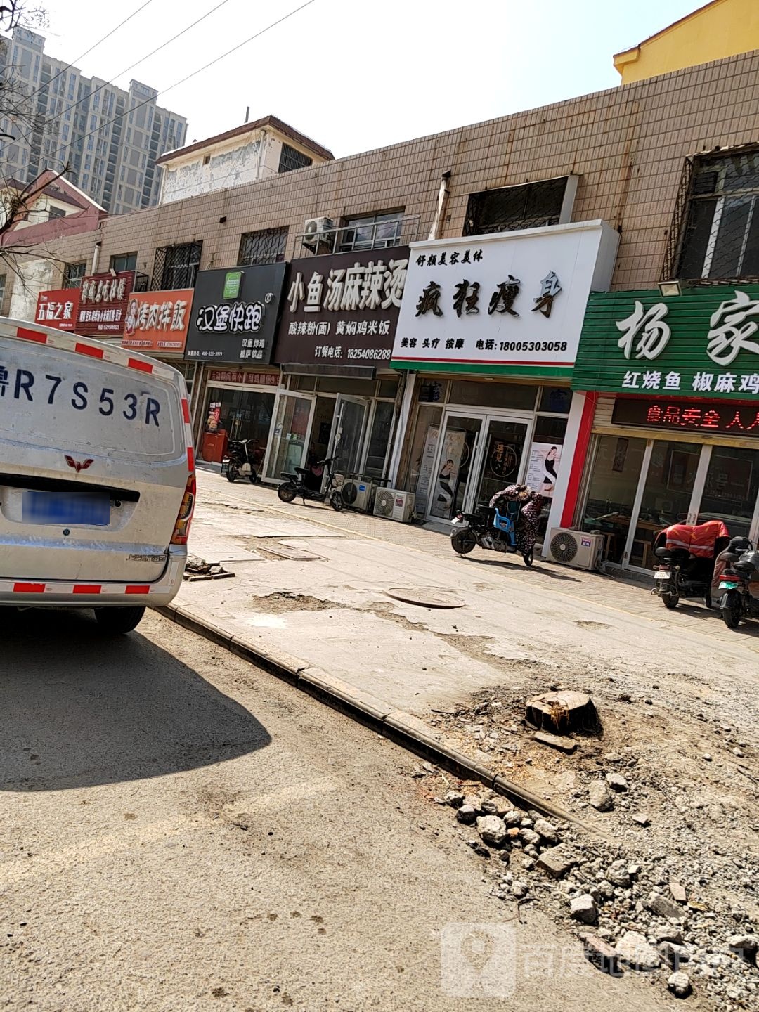
[[[411,245],[392,364],[407,373],[397,487],[449,522],[525,482],[563,510],[572,369],[617,233],[600,221]]]

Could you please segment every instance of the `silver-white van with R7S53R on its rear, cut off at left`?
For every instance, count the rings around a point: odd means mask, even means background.
[[[0,605],[130,631],[181,585],[194,501],[176,369],[0,317]]]

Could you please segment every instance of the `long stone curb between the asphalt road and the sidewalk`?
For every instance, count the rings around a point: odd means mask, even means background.
[[[431,730],[412,713],[396,709],[371,693],[364,692],[355,685],[310,665],[307,661],[302,661],[283,651],[271,648],[264,650],[244,637],[234,636],[221,625],[206,621],[192,608],[166,604],[155,610],[164,618],[170,618],[191,632],[196,632],[203,639],[226,648],[237,657],[250,661],[268,674],[287,682],[288,685],[293,685],[302,692],[376,731],[396,745],[433,762],[460,779],[480,780],[486,787],[503,794],[522,808],[534,809],[549,818],[560,819],[586,832],[603,835],[599,827],[583,822],[564,809],[533,794],[531,790],[496,774],[494,770],[483,766],[463,752],[458,752],[439,741]]]

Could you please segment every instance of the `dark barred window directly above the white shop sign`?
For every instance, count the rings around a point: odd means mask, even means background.
[[[559,179],[470,193],[463,223],[465,236],[558,225],[567,178],[561,176]]]

